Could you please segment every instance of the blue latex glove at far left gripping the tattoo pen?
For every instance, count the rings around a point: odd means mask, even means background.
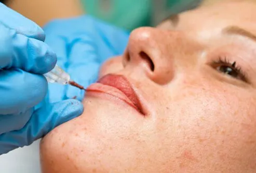
[[[30,145],[83,111],[77,100],[49,104],[42,75],[56,64],[44,32],[0,3],[0,154]]]

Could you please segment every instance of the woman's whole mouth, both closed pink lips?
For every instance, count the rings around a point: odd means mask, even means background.
[[[142,106],[136,92],[134,92],[132,85],[123,75],[107,74],[100,78],[97,83],[90,85],[86,91],[104,92],[114,96],[143,114]]]

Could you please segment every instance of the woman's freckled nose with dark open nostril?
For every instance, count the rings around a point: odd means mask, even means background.
[[[133,30],[123,56],[124,66],[143,69],[155,83],[168,83],[173,78],[173,54],[167,48],[172,45],[165,36],[151,27]]]

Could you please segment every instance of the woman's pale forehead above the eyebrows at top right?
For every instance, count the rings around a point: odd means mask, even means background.
[[[230,26],[238,26],[256,35],[255,9],[256,1],[227,0],[180,13],[175,21],[170,18],[157,27],[181,31],[202,43],[219,38],[222,30]]]

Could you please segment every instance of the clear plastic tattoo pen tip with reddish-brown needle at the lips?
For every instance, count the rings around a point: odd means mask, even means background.
[[[86,90],[82,85],[79,85],[76,82],[72,81],[70,79],[70,75],[57,65],[50,72],[45,73],[44,76],[50,83],[58,83],[62,85],[70,84],[79,89]]]

